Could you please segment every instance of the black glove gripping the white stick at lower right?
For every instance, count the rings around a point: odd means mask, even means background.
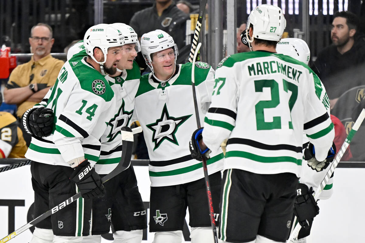
[[[294,214],[297,216],[299,224],[306,230],[308,235],[313,219],[319,213],[319,207],[314,200],[313,192],[312,187],[308,189],[306,184],[299,183],[297,187],[297,196],[294,200]],[[301,238],[303,237],[305,236],[301,235]]]

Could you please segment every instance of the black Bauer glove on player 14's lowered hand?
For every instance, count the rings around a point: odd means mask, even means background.
[[[70,176],[70,180],[76,183],[77,188],[81,192],[81,196],[85,199],[93,199],[94,197],[103,197],[105,189],[95,168],[86,159],[79,164]]]

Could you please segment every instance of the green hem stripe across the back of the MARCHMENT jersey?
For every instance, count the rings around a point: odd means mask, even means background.
[[[254,160],[262,163],[293,162],[297,165],[301,165],[301,159],[297,159],[290,156],[264,157],[244,151],[228,151],[226,153],[226,158],[228,157],[248,158],[249,160]]]

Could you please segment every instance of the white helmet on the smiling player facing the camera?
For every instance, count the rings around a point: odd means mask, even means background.
[[[141,51],[150,68],[152,67],[151,54],[168,48],[173,48],[176,62],[179,51],[174,39],[168,33],[163,30],[154,30],[142,35]],[[151,69],[151,71],[153,71],[153,69]]]

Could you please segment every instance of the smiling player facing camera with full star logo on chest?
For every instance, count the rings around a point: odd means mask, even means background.
[[[150,157],[150,232],[154,243],[180,243],[186,209],[192,243],[213,242],[202,163],[187,146],[196,128],[191,72],[200,119],[211,101],[214,70],[204,62],[176,65],[177,46],[162,30],[143,34],[141,50],[151,73],[141,77],[133,117],[139,121]],[[223,154],[207,160],[214,208],[218,209]],[[218,210],[215,212],[217,213]]]

